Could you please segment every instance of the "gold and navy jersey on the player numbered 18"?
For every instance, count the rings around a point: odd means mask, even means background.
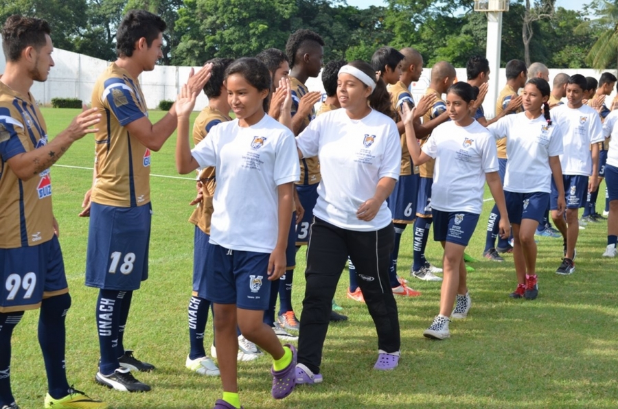
[[[112,62],[95,83],[92,107],[103,117],[95,134],[97,180],[91,200],[115,207],[148,204],[150,150],[125,128],[148,116],[139,82]]]

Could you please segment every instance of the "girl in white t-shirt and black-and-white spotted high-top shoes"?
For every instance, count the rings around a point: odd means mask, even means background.
[[[412,161],[421,165],[435,159],[431,207],[433,235],[444,247],[444,281],[440,312],[423,333],[442,340],[450,336],[451,318],[466,318],[472,301],[466,285],[464,250],[483,210],[485,180],[500,212],[500,235],[509,237],[510,225],[502,183],[498,175],[496,143],[488,130],[470,116],[474,102],[472,86],[457,82],[446,94],[450,121],[433,130],[422,150],[412,126],[413,110],[406,113],[406,138]],[[451,313],[457,296],[457,304]]]

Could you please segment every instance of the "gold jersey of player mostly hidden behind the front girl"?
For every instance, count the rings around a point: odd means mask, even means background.
[[[207,106],[195,119],[193,124],[193,142],[195,145],[204,139],[210,130],[221,122],[229,121],[229,117],[220,110]],[[193,211],[189,221],[199,227],[201,231],[210,234],[210,220],[212,218],[212,198],[216,187],[214,166],[205,167],[199,172],[199,179],[202,183],[202,201]]]

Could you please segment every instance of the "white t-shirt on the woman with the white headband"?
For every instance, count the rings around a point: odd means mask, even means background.
[[[401,144],[393,119],[371,110],[355,120],[345,109],[332,110],[311,121],[296,141],[304,157],[319,157],[317,218],[354,231],[376,231],[391,223],[386,201],[370,222],[358,220],[356,211],[374,196],[380,178],[399,178]]]

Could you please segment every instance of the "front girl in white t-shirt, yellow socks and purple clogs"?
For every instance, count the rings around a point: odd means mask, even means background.
[[[216,409],[240,408],[237,322],[245,338],[273,356],[273,397],[288,396],[296,384],[294,347],[283,346],[262,322],[271,288],[266,279],[279,279],[286,269],[292,189],[300,174],[294,136],[265,113],[271,74],[262,62],[236,60],[225,71],[225,86],[236,119],[211,128],[209,137],[193,150],[188,142],[189,115],[196,95],[189,95],[184,86],[176,102],[178,172],[187,174],[206,166],[217,169],[206,257],[206,295],[214,303],[223,384]]]

